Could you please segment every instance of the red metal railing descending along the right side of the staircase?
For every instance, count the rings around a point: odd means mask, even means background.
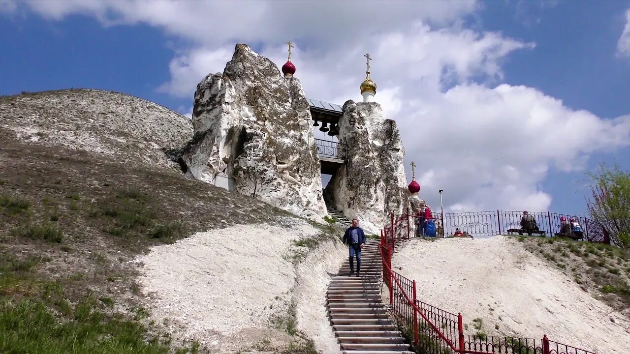
[[[389,304],[396,321],[404,328],[416,353],[425,354],[595,354],[592,351],[542,339],[486,336],[483,333],[464,334],[461,314],[444,311],[418,300],[416,282],[391,268],[391,258],[397,239],[409,238],[404,229],[408,220],[394,218],[381,231],[379,247],[383,265],[383,282],[389,290]]]

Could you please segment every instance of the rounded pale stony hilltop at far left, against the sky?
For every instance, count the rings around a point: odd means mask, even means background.
[[[62,89],[0,97],[0,130],[43,146],[179,169],[164,151],[192,137],[190,119],[129,94]]]

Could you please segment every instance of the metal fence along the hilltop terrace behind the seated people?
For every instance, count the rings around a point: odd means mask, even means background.
[[[575,219],[582,227],[583,240],[594,243],[610,244],[610,237],[605,228],[594,220],[577,215],[557,214],[552,212],[528,212],[536,220],[539,231],[544,236],[553,237],[560,232],[560,218]],[[440,236],[452,236],[456,229],[466,231],[471,236],[495,236],[520,229],[522,212],[491,210],[488,212],[440,213],[433,214],[433,220]],[[418,236],[418,217],[406,212],[402,215],[391,214],[391,220],[385,227],[387,233],[393,233],[394,239],[408,239]]]

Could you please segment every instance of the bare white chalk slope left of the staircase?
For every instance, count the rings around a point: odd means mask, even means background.
[[[292,240],[321,231],[300,219],[285,218],[287,223],[290,228],[255,224],[199,232],[140,256],[140,284],[150,297],[151,319],[166,319],[178,340],[197,340],[212,353],[233,353],[265,337],[282,337],[270,317],[284,316],[296,300],[298,329],[328,348],[334,340],[323,305],[328,280],[318,282],[311,275],[325,276],[343,258],[324,257],[322,262],[318,258],[323,255],[309,255],[305,263],[312,274],[298,277],[282,256]],[[324,326],[328,334],[320,330]]]

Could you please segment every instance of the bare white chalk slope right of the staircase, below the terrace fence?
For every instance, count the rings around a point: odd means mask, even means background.
[[[416,280],[419,300],[461,312],[470,334],[479,317],[488,335],[547,334],[600,354],[630,353],[627,317],[505,236],[413,239],[396,249],[392,266]]]

